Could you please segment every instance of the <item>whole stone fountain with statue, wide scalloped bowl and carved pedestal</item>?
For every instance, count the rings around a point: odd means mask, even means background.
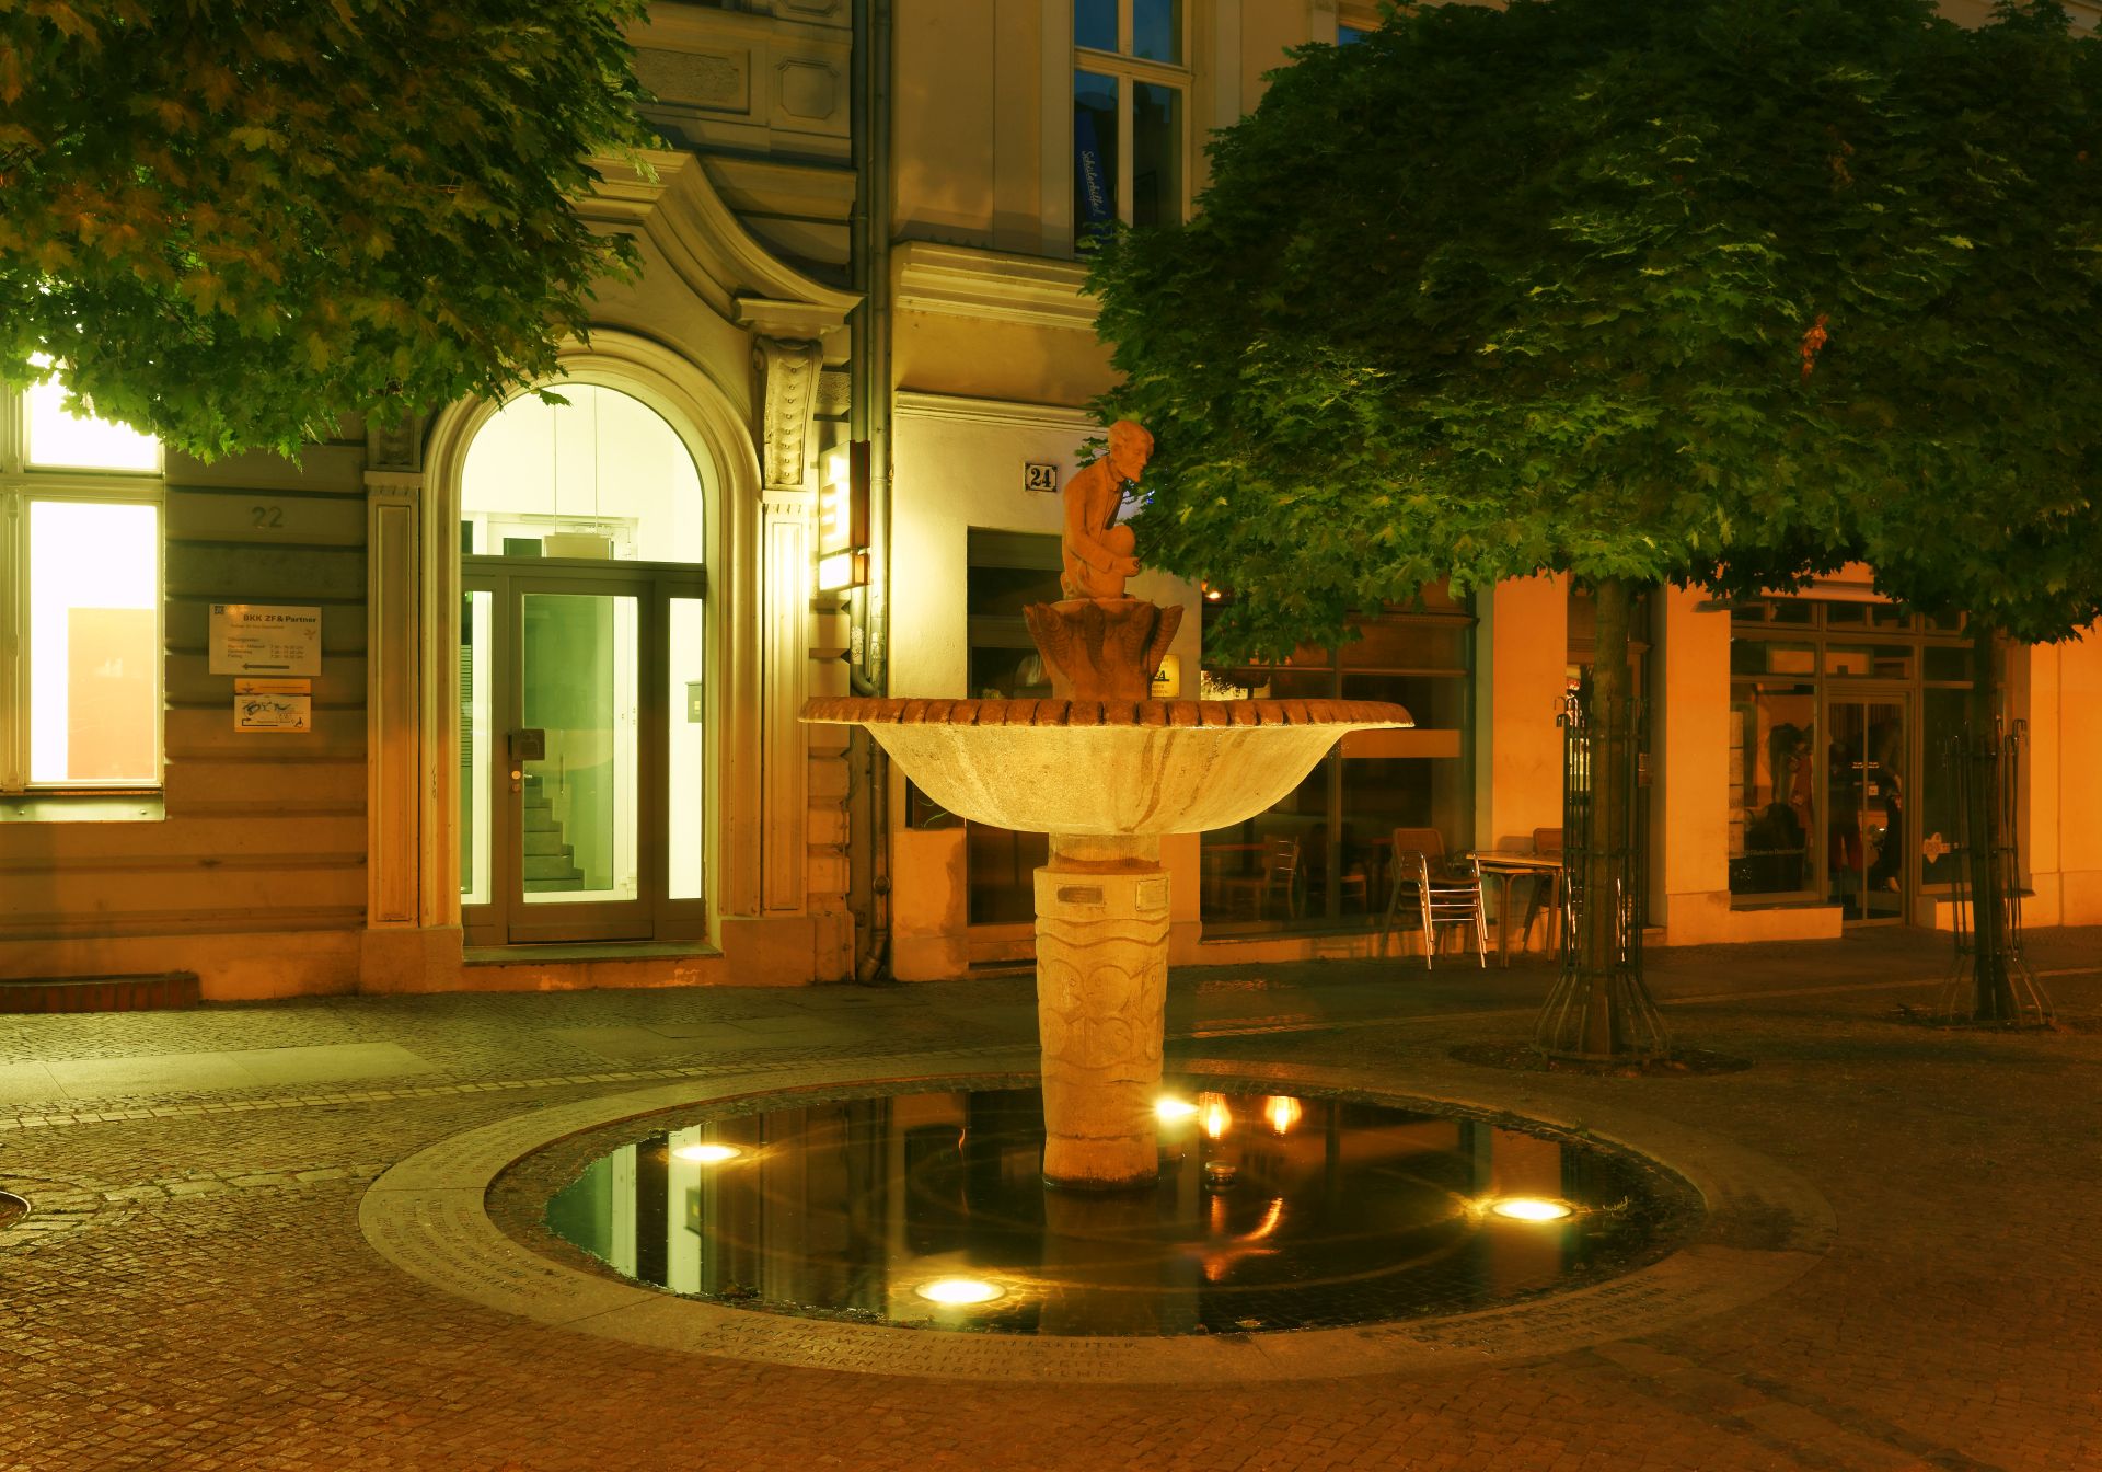
[[[1169,875],[1160,837],[1253,818],[1347,732],[1413,725],[1373,700],[1152,700],[1179,608],[1127,597],[1139,572],[1116,522],[1152,435],[1064,490],[1057,604],[1028,608],[1051,700],[811,700],[805,721],[862,725],[927,797],[971,822],[1051,835],[1036,871],[1036,1022],[1045,1182],[1150,1186],[1167,997]]]

